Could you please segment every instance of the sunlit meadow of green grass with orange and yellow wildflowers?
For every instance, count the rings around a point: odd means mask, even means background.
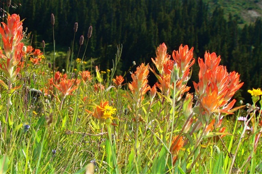
[[[196,58],[183,44],[167,53],[159,43],[151,63],[115,74],[124,48],[101,71],[85,55],[90,26],[73,40],[83,55],[71,45],[58,71],[54,32],[46,55],[44,40],[39,48],[25,41],[18,14],[1,24],[1,174],[262,173],[262,91],[248,90],[250,104],[234,99],[244,74],[228,72],[216,53]],[[71,27],[73,35],[78,23]]]

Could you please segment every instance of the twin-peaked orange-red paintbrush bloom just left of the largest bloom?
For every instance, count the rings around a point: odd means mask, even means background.
[[[166,96],[171,94],[170,90],[174,89],[173,81],[176,80],[175,89],[182,95],[189,90],[186,83],[190,78],[190,67],[194,63],[193,48],[188,50],[187,45],[184,47],[180,45],[179,50],[174,50],[172,53],[173,60],[170,59],[170,55],[166,53],[166,50],[166,45],[164,43],[160,44],[156,49],[155,60],[151,58],[159,75],[153,69],[150,70],[157,77],[158,83],[156,83],[156,86],[163,94]]]

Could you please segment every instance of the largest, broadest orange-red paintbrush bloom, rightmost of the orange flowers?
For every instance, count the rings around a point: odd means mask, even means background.
[[[228,111],[233,107],[235,100],[229,104],[228,101],[243,85],[240,83],[239,74],[234,71],[228,73],[225,66],[219,65],[220,60],[220,56],[207,52],[204,62],[198,58],[199,82],[193,82],[193,85],[207,118],[214,112],[231,114]]]

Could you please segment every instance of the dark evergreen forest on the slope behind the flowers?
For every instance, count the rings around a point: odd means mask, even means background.
[[[233,14],[226,20],[222,8],[210,11],[204,0],[12,0],[15,4],[9,13],[25,18],[24,27],[32,32],[34,47],[40,48],[37,42],[42,40],[52,43],[51,13],[55,16],[55,44],[59,46],[72,45],[75,22],[76,43],[80,35],[87,38],[92,25],[86,59],[98,58],[94,64],[100,64],[101,70],[112,67],[118,44],[123,46],[118,71],[122,74],[132,61],[149,63],[162,42],[169,54],[180,44],[187,44],[194,47],[196,60],[203,58],[206,50],[216,52],[229,71],[240,73],[244,86],[238,99],[250,98],[247,89],[262,87],[261,18],[239,28]],[[78,50],[79,45],[74,45]],[[194,81],[198,81],[197,71],[195,63]]]

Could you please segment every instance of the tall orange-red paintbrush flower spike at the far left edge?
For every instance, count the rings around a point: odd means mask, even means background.
[[[20,71],[20,68],[15,66],[20,62],[22,58],[23,43],[20,42],[22,35],[22,21],[17,14],[8,14],[7,24],[2,23],[0,27],[0,34],[2,36],[4,54],[0,51],[0,69],[3,71],[8,82],[7,85],[0,80],[0,83],[6,89],[11,89],[11,84],[15,82],[16,76]]]

